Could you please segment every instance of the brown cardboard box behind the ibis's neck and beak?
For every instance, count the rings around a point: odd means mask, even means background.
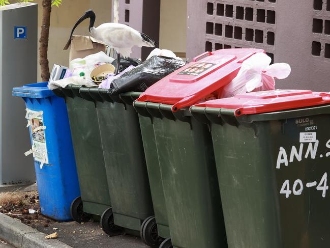
[[[73,35],[70,45],[69,62],[77,58],[85,58],[87,55],[106,52],[106,45],[91,36]]]

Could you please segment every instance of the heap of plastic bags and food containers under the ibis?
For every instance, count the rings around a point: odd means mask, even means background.
[[[156,52],[152,51],[151,54],[160,52],[161,50],[158,49]],[[69,84],[88,87],[99,85],[101,89],[110,89],[110,94],[127,91],[143,92],[159,79],[187,64],[176,57],[157,55],[144,62],[127,58],[121,59],[119,73],[115,75],[115,67],[111,64],[113,62],[116,64],[117,60],[108,57],[103,51],[88,55],[85,58],[74,59],[70,62],[70,69],[66,71],[64,77],[50,81],[48,87],[50,90],[54,90],[59,87],[65,88]]]

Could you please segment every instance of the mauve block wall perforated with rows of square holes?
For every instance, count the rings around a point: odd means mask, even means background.
[[[230,47],[289,63],[277,88],[330,91],[330,0],[188,0],[187,57]]]

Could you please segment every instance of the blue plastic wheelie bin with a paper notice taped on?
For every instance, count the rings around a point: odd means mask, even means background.
[[[70,205],[80,191],[65,102],[47,82],[13,88],[13,96],[26,104],[41,213],[70,221]]]

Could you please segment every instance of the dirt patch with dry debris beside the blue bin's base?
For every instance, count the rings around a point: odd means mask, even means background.
[[[29,213],[29,211],[35,213]],[[16,218],[32,228],[48,227],[50,223],[55,223],[53,219],[41,214],[37,190],[0,193],[0,212]]]

